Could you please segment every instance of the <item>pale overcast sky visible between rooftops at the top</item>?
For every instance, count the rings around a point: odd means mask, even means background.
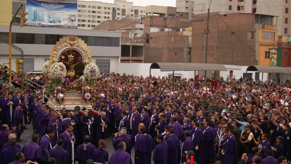
[[[114,0],[92,0],[104,3],[114,3]],[[133,2],[134,6],[172,6],[176,7],[176,0],[127,0],[128,2]]]

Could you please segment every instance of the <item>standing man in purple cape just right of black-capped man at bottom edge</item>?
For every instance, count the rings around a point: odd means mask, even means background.
[[[192,139],[194,145],[195,162],[197,162],[197,164],[202,164],[204,160],[206,160],[205,140],[203,136],[203,131],[199,128],[199,122],[195,122],[193,128],[194,134],[192,136]]]

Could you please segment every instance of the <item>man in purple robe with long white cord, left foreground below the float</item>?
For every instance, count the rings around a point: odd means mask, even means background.
[[[71,123],[66,125],[66,130],[64,133],[59,135],[59,139],[64,140],[63,148],[69,153],[70,163],[72,163],[74,160],[74,146],[76,143],[76,137],[73,133],[73,126]]]

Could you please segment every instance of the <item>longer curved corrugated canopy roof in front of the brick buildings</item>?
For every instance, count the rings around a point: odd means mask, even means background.
[[[150,69],[164,71],[227,71],[222,64],[210,63],[153,63]]]

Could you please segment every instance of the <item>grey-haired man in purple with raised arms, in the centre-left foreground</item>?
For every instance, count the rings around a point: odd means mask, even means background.
[[[127,146],[126,146],[126,152],[131,155],[131,149],[132,149],[132,141],[131,138],[128,137],[126,130],[121,129],[119,133],[115,133],[115,137],[112,140],[112,144],[113,144],[113,148],[115,149],[115,151],[118,151],[118,145],[120,142],[124,142]],[[119,135],[119,137],[118,137]],[[118,138],[117,138],[118,137]]]

